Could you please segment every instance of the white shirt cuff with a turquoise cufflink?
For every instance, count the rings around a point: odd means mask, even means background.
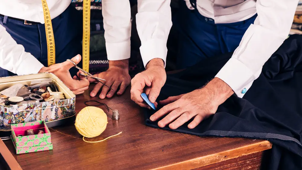
[[[215,77],[228,84],[240,98],[249,90],[256,79],[248,67],[234,58],[231,58]]]

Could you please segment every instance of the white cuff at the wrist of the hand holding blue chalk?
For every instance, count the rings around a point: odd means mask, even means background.
[[[164,61],[164,67],[166,66],[167,58],[167,44],[161,39],[147,40],[140,46],[140,54],[142,55],[143,63],[146,65],[151,59],[160,58]]]

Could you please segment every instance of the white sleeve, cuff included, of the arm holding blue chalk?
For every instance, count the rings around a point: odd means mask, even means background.
[[[172,27],[171,0],[138,0],[137,32],[144,66],[154,58],[167,57],[167,39]]]

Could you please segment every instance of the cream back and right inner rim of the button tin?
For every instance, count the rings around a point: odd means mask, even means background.
[[[0,88],[5,89],[9,88],[12,85],[37,80],[37,79],[45,79],[45,78],[52,78],[59,86],[59,91],[63,93],[67,93],[71,98],[76,97],[75,94],[53,73],[38,73],[38,74],[28,74],[28,75],[15,75],[9,77],[1,77],[0,78]]]

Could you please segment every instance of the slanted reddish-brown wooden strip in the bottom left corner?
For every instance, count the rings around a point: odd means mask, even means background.
[[[0,154],[3,157],[4,161],[7,163],[8,167],[11,169],[22,170],[21,166],[11,154],[11,151],[8,150],[5,143],[0,139]]]

